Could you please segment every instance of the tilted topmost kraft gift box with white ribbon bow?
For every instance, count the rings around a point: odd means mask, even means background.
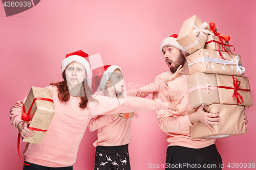
[[[192,54],[204,47],[208,34],[214,35],[209,30],[208,23],[194,15],[183,22],[177,42]]]

